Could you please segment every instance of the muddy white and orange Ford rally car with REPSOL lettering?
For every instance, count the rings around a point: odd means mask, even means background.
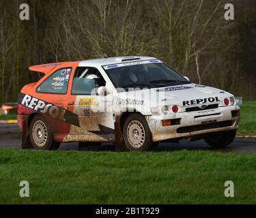
[[[115,142],[147,151],[158,142],[199,140],[214,148],[236,136],[232,94],[191,83],[154,57],[111,57],[29,67],[46,76],[23,87],[18,123],[35,149],[60,142]],[[24,143],[23,143],[24,144]]]

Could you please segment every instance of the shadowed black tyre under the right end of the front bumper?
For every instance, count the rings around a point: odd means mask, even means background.
[[[221,149],[233,142],[236,137],[236,130],[227,131],[221,134],[214,134],[204,138],[205,142],[214,149]]]

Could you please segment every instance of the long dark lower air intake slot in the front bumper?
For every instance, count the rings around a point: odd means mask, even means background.
[[[217,123],[206,123],[206,124],[200,124],[200,125],[190,125],[188,127],[180,127],[177,128],[178,134],[185,134],[192,131],[201,131],[205,129],[216,129],[221,127],[229,127],[233,125],[233,121],[222,121]]]

